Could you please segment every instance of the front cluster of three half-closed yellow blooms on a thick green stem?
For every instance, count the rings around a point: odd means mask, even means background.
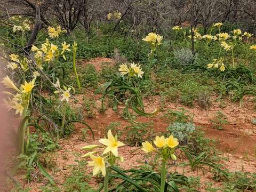
[[[177,160],[173,153],[175,147],[179,145],[179,142],[177,138],[173,137],[173,135],[170,135],[169,138],[164,138],[164,136],[156,136],[154,144],[158,149],[155,149],[153,145],[148,141],[142,142],[142,150],[145,151],[145,153],[151,153],[155,151],[156,153],[160,154],[164,160],[167,160],[170,157],[174,161]]]

